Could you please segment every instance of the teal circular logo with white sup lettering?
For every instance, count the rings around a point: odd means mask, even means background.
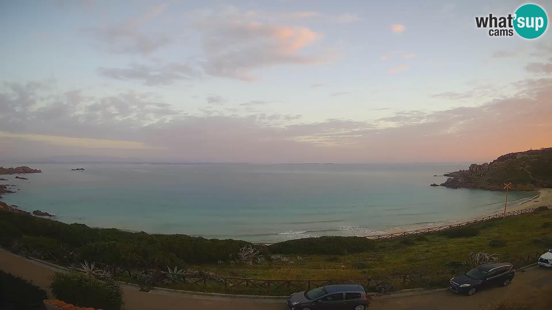
[[[536,4],[524,4],[516,10],[514,29],[522,38],[538,38],[544,33],[546,26],[548,26],[548,16]]]

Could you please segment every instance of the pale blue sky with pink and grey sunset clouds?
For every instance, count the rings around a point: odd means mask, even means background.
[[[0,159],[488,162],[551,147],[552,30],[475,26],[524,3],[2,1]]]

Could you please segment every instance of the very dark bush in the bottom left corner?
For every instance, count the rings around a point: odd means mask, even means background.
[[[39,310],[45,309],[45,290],[25,279],[0,270],[0,309]]]

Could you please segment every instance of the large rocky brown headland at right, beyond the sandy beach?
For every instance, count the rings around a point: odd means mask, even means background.
[[[468,170],[443,175],[449,178],[431,186],[503,190],[504,183],[512,183],[512,190],[550,188],[552,147],[505,154],[491,163],[471,164]]]

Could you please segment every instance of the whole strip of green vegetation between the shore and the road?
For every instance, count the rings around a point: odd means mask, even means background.
[[[411,236],[405,239],[374,241],[359,237],[319,237],[288,240],[267,247],[240,240],[216,240],[180,234],[131,233],[118,229],[67,225],[49,219],[0,211],[0,231],[9,232],[12,251],[28,253],[46,260],[63,260],[51,253],[64,253],[67,261],[99,261],[136,269],[167,271],[191,268],[215,272],[222,277],[275,280],[373,279],[383,276],[420,274],[465,268],[469,253],[496,253],[499,260],[552,247],[552,210],[498,218],[469,227]],[[247,246],[247,247],[246,247]],[[249,246],[260,250],[247,250]],[[492,248],[492,250],[490,250]],[[241,259],[247,254],[248,259]],[[248,254],[250,253],[250,254]],[[41,256],[40,256],[41,255]],[[262,258],[262,259],[261,259]],[[102,268],[97,266],[97,268]],[[200,276],[203,273],[199,274]],[[432,275],[415,282],[394,281],[399,288],[436,286],[448,275]],[[148,286],[145,275],[118,276],[118,280]],[[140,281],[139,281],[140,280]],[[152,283],[174,289],[225,290],[224,282],[209,277],[206,286],[165,281]],[[203,280],[201,280],[203,281]],[[381,281],[366,282],[367,290],[391,290]],[[399,283],[401,282],[401,283]],[[376,287],[378,284],[380,286]],[[265,282],[266,285],[266,282]],[[254,286],[233,287],[229,293],[285,295],[289,290],[271,288],[270,292]]]

